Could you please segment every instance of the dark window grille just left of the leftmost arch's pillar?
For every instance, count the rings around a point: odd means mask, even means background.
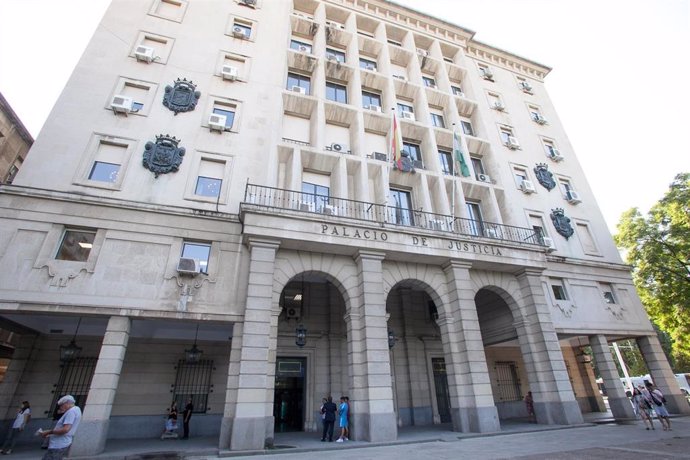
[[[177,375],[170,391],[179,411],[182,411],[187,405],[187,400],[192,398],[194,413],[206,413],[208,395],[213,391],[211,374],[214,370],[212,359],[201,360],[198,363],[188,363],[181,359],[177,363]]]

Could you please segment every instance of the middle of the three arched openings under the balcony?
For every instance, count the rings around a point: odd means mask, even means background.
[[[435,297],[432,298],[432,295]],[[398,426],[451,421],[451,398],[438,319],[438,296],[425,283],[403,280],[386,299]]]

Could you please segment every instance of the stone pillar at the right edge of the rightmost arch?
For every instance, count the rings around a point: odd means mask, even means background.
[[[519,310],[513,312],[529,390],[534,396],[534,412],[539,423],[583,423],[544,298],[541,271],[525,269],[516,275],[522,297],[516,299]]]

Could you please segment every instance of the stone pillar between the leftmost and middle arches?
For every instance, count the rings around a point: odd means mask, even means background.
[[[398,437],[386,300],[383,293],[383,254],[360,251],[359,297],[345,314],[350,366],[352,435],[360,441],[393,441]]]

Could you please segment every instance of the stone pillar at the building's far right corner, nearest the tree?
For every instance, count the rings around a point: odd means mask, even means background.
[[[680,391],[678,381],[673,375],[673,370],[656,334],[638,338],[637,346],[647,364],[654,385],[659,387],[666,398],[666,407],[669,412],[690,415],[690,406]]]

